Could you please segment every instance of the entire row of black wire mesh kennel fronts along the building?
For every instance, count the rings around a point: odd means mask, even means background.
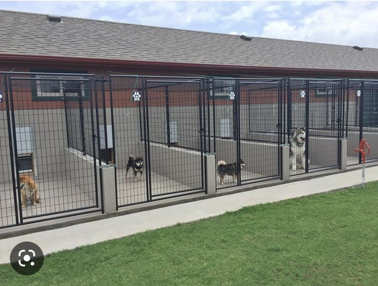
[[[291,175],[339,168],[344,137],[378,159],[378,81],[2,73],[0,227],[101,211],[102,165],[120,207],[204,192],[204,152],[217,189],[279,179],[285,143]]]

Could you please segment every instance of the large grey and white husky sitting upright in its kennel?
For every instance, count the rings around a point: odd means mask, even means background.
[[[306,128],[295,129],[290,143],[290,168],[295,171],[297,164],[299,168],[306,167]],[[310,163],[310,160],[309,160]]]

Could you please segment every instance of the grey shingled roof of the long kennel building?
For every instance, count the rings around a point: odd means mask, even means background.
[[[0,10],[0,55],[378,71],[378,49]],[[326,31],[325,31],[326,32]]]

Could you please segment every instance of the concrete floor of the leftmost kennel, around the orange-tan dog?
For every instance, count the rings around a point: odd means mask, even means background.
[[[74,184],[66,177],[54,178],[51,181],[36,180],[36,183],[39,186],[41,203],[33,205],[31,201],[28,201],[26,207],[22,207],[24,219],[96,206],[94,184],[92,187],[87,187],[90,191],[85,192],[82,186]],[[16,222],[12,182],[0,183],[0,217],[0,226]]]

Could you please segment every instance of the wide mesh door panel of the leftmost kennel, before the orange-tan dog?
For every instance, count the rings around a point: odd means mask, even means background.
[[[94,144],[91,145],[92,156],[86,156],[83,150],[69,146],[68,140],[64,94],[67,87],[63,87],[63,83],[71,83],[69,102],[81,101],[73,99],[81,92],[74,88],[82,89],[79,82],[88,83],[85,93],[90,103],[87,103],[86,115],[89,146],[94,138],[91,79],[90,75],[85,76],[87,80],[77,74],[66,78],[51,73],[7,74],[18,223],[101,211],[98,196],[99,191],[102,195],[102,189],[97,182]],[[43,98],[36,98],[40,96]],[[81,113],[79,125],[82,120]],[[82,132],[79,138],[81,141]],[[34,194],[35,189],[37,199],[28,195]]]

